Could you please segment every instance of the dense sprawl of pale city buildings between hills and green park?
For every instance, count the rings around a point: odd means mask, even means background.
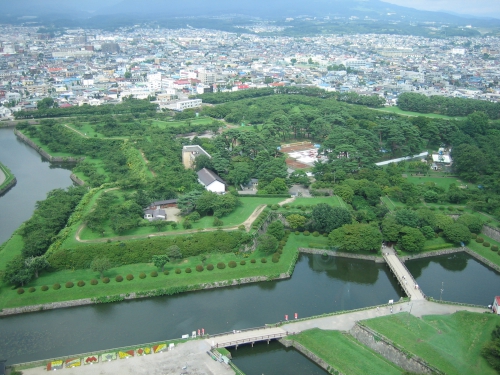
[[[190,95],[294,85],[378,95],[388,106],[404,92],[500,98],[498,37],[266,37],[189,25],[44,31],[0,29],[2,118],[35,110],[45,97],[59,107],[150,97],[183,109],[176,103]]]

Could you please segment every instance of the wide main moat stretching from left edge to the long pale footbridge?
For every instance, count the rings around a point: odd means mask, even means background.
[[[384,264],[301,255],[290,279],[0,318],[2,339],[8,337],[0,340],[0,353],[19,363],[161,341],[198,328],[257,327],[285,314],[319,315],[400,296]]]

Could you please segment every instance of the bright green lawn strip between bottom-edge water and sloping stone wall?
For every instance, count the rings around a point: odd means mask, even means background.
[[[360,344],[352,336],[339,331],[313,328],[298,335],[288,336],[304,345],[335,370],[349,375],[402,374],[403,370],[380,354]]]

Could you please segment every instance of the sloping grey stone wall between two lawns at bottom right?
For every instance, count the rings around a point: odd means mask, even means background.
[[[377,332],[356,323],[349,333],[359,342],[368,346],[403,370],[417,374],[444,374],[431,367],[423,359],[404,352]]]

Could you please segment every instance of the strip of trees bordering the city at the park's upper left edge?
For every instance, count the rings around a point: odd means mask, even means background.
[[[68,108],[44,108],[37,111],[15,112],[16,120],[28,118],[49,118],[49,117],[74,117],[88,115],[108,115],[125,113],[150,113],[156,112],[157,105],[149,100],[127,99],[120,104],[108,104],[99,106],[73,106]]]

